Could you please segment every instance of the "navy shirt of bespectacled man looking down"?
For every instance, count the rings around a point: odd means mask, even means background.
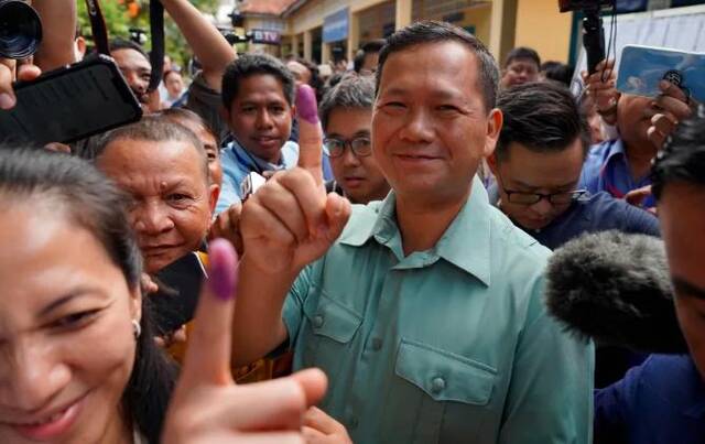
[[[497,185],[490,185],[488,194],[494,197],[495,203],[499,201],[497,193]],[[574,201],[565,213],[541,229],[522,229],[552,250],[585,232],[616,229],[623,232],[661,236],[659,219],[655,216],[604,192]]]

